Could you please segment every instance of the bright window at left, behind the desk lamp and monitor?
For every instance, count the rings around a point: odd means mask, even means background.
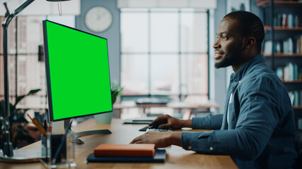
[[[0,17],[0,22],[4,21]],[[47,16],[48,20],[74,27],[74,15]],[[27,96],[18,108],[33,108],[40,111],[47,108],[45,63],[38,61],[38,46],[43,44],[42,20],[45,16],[17,16],[8,26],[8,82],[9,99],[12,104],[16,96],[28,94],[32,89],[41,89],[33,96]],[[0,29],[0,39],[3,30]],[[4,99],[4,51],[0,42],[0,101]]]

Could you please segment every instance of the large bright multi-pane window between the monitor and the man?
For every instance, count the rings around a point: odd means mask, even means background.
[[[208,12],[121,9],[123,95],[208,97]]]

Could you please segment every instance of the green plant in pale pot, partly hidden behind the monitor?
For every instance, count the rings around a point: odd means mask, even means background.
[[[117,82],[112,82],[111,84],[111,102],[112,106],[117,101],[117,97],[122,94],[122,90],[124,87],[120,87]],[[109,113],[102,113],[98,115],[94,115],[95,122],[98,124],[110,124],[113,118],[113,111]]]

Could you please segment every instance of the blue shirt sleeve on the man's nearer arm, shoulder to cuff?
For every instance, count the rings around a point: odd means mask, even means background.
[[[265,149],[279,123],[278,89],[280,88],[276,88],[268,78],[254,79],[243,84],[240,89],[242,95],[238,96],[240,113],[236,128],[182,132],[182,147],[205,154],[228,154],[243,160],[254,160]],[[209,121],[211,120],[202,120],[208,124]],[[192,126],[196,122],[197,120],[192,120]]]

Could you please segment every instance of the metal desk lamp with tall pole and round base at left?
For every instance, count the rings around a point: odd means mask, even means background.
[[[0,120],[2,123],[2,132],[4,134],[4,145],[2,148],[3,155],[0,155],[0,161],[8,162],[8,163],[18,163],[18,162],[38,162],[40,161],[41,154],[40,152],[37,154],[35,153],[35,150],[29,150],[29,152],[23,151],[13,151],[13,146],[10,142],[10,135],[9,135],[9,120],[8,117],[10,115],[9,110],[9,94],[8,94],[8,49],[7,49],[7,30],[8,30],[8,24],[11,22],[13,17],[17,15],[18,13],[21,13],[24,8],[26,8],[28,5],[30,5],[35,0],[26,0],[16,8],[13,13],[9,13],[6,2],[4,2],[4,6],[6,8],[5,13],[5,20],[2,23],[2,27],[4,28],[4,38],[3,38],[3,49],[4,49],[4,113],[1,115]],[[47,0],[47,1],[70,1],[70,0]],[[24,154],[26,154],[27,157],[24,157]],[[32,156],[28,156],[28,155]]]

